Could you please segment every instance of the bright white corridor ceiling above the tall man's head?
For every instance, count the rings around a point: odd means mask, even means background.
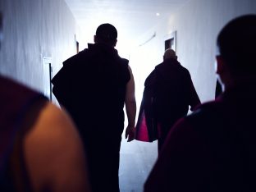
[[[190,0],[66,0],[83,34],[94,36],[98,25],[117,27],[118,40],[147,33]],[[159,15],[159,16],[157,16]]]

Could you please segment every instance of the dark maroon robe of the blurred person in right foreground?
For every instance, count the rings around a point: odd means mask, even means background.
[[[255,191],[255,85],[229,89],[177,122],[144,191]]]

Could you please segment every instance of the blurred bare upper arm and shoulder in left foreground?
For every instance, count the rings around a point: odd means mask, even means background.
[[[47,103],[25,136],[25,162],[34,191],[90,191],[82,146],[71,119]]]

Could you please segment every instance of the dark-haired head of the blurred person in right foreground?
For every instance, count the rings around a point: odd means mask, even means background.
[[[229,89],[256,78],[256,15],[230,21],[217,36],[217,74]]]

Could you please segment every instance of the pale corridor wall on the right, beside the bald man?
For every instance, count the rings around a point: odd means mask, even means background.
[[[214,98],[216,38],[236,16],[256,14],[255,0],[191,0],[169,17],[165,34],[177,31],[177,55],[192,76],[199,98]]]

